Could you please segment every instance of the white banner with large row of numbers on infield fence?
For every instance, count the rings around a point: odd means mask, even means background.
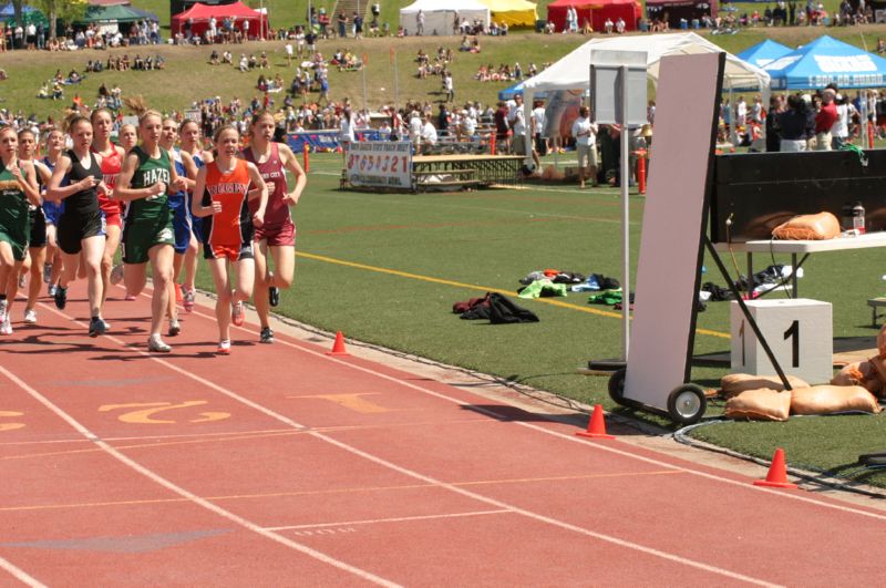
[[[408,141],[354,142],[344,165],[352,186],[412,188],[412,149]]]

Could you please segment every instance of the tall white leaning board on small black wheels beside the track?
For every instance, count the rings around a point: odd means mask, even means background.
[[[689,382],[724,61],[704,53],[660,63],[624,398],[662,410]]]

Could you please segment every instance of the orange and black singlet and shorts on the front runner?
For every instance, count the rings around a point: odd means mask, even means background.
[[[234,169],[223,173],[217,162],[206,165],[204,206],[222,203],[222,212],[204,217],[206,259],[231,261],[253,258],[253,220],[249,213],[249,168],[236,159]]]

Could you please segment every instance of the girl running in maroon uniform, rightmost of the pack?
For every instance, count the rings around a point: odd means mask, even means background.
[[[296,269],[296,225],[289,214],[289,207],[298,204],[308,176],[296,159],[292,149],[284,143],[274,143],[274,130],[277,123],[268,112],[258,112],[253,116],[249,147],[243,156],[258,167],[261,177],[268,185],[268,208],[265,213],[265,225],[256,230],[256,288],[255,305],[261,321],[261,342],[272,343],[274,331],[270,330],[268,317],[270,307],[280,300],[280,288],[288,289],[292,285]],[[288,192],[286,171],[295,177],[296,186]],[[255,202],[255,200],[253,200]],[[270,271],[267,254],[274,258],[274,271]],[[267,292],[267,293],[266,293]]]

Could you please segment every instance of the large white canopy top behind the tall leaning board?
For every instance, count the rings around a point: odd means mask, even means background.
[[[549,90],[590,87],[590,52],[593,50],[646,51],[649,78],[658,83],[658,64],[664,55],[717,53],[723,51],[696,33],[628,35],[615,39],[591,39],[552,66],[523,83],[526,94]],[[769,74],[760,68],[727,53],[723,89],[760,87],[767,93]],[[530,103],[527,99],[526,103]]]

